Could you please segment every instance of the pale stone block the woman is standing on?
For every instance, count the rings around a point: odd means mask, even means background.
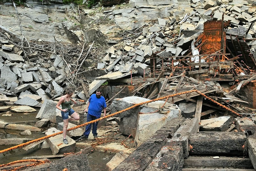
[[[51,135],[57,132],[60,132],[60,130],[57,130],[56,128],[50,128],[47,130],[47,132],[45,132],[45,135]],[[66,139],[68,140],[68,144],[63,143],[62,134],[46,139],[46,142],[50,146],[53,155],[75,152],[76,141],[71,139],[69,136],[66,136]]]

